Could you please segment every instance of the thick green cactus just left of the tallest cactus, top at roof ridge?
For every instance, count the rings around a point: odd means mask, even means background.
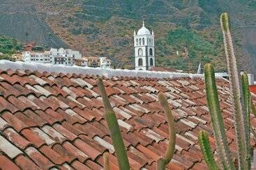
[[[216,139],[216,150],[218,152],[220,162],[223,165],[223,169],[235,169],[227,145],[227,137],[225,135],[223,117],[220,111],[214,69],[210,64],[206,64],[204,67],[204,80],[208,108],[211,114],[214,137]]]

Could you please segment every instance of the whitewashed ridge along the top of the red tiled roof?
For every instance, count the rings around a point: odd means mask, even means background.
[[[106,78],[112,77],[142,77],[142,78],[203,78],[204,74],[188,74],[188,73],[177,73],[177,72],[165,72],[165,71],[137,71],[129,69],[103,69],[103,68],[92,68],[92,67],[78,67],[78,66],[66,66],[66,65],[52,65],[43,64],[38,62],[11,62],[9,60],[0,60],[0,69],[3,71],[7,69],[22,70],[29,69],[31,71],[39,72],[55,72],[62,74],[88,74],[92,76],[105,76]]]

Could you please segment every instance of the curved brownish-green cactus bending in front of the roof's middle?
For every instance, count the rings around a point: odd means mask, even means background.
[[[163,158],[159,158],[157,169],[165,169],[165,166],[172,160],[172,156],[174,155],[175,151],[175,143],[176,143],[176,130],[175,130],[175,122],[172,116],[172,110],[168,104],[165,94],[159,93],[158,100],[160,105],[167,115],[167,122],[168,122],[168,130],[169,130],[169,143],[167,146],[167,150],[165,152],[165,156]]]

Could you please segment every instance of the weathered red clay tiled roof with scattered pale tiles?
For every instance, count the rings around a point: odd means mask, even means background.
[[[118,169],[96,78],[0,70],[0,169],[102,169],[107,150],[112,169]],[[176,151],[167,169],[206,169],[197,144],[199,130],[206,130],[215,146],[202,78],[112,76],[103,82],[133,169],[156,169],[156,160],[167,148],[167,120],[158,92],[167,95],[176,121]],[[229,84],[217,82],[234,154]],[[256,127],[255,119],[252,125]],[[253,139],[251,144],[255,146]]]

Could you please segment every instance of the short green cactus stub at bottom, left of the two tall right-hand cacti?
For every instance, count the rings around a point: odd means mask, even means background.
[[[207,167],[211,170],[218,170],[219,168],[213,158],[213,152],[211,151],[209,136],[204,130],[200,130],[198,135],[198,142]]]

